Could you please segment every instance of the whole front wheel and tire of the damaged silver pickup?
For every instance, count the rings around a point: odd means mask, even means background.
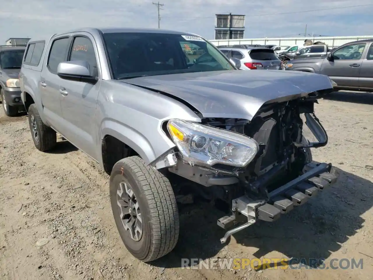
[[[175,248],[179,214],[169,180],[138,156],[118,161],[110,175],[110,202],[127,250],[143,262]]]

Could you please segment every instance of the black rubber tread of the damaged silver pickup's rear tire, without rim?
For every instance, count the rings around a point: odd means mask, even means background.
[[[54,131],[52,128],[44,124],[44,122],[40,118],[40,114],[38,112],[38,109],[35,103],[31,104],[30,107],[28,108],[29,117],[31,114],[34,114],[35,121],[39,128],[40,147],[37,147],[37,149],[40,150],[41,152],[45,152],[47,150],[52,149],[54,146],[56,146],[56,143],[57,143],[56,131]],[[31,127],[30,127],[30,130],[31,130]]]

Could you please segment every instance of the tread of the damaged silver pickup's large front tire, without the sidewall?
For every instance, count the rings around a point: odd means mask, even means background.
[[[170,181],[151,166],[146,166],[138,156],[121,160],[131,170],[141,185],[147,199],[153,240],[144,262],[153,261],[175,248],[179,238],[179,213]]]

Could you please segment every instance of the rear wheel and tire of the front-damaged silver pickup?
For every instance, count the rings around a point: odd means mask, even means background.
[[[35,104],[28,108],[28,123],[35,147],[41,152],[52,149],[57,143],[57,134],[41,120]]]

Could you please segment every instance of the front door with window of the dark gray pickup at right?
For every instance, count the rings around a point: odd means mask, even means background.
[[[366,43],[353,43],[333,52],[333,61],[324,59],[320,74],[329,76],[339,87],[358,87]]]

